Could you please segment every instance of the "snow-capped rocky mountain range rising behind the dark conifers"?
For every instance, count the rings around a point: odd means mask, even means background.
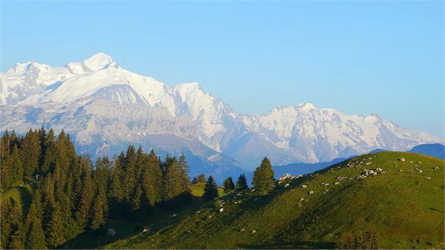
[[[114,155],[128,144],[186,151],[221,176],[251,169],[266,155],[275,165],[320,162],[441,141],[375,114],[348,115],[310,103],[241,115],[198,83],[169,87],[122,69],[103,53],[64,67],[15,64],[0,73],[0,104],[0,130],[64,129],[92,155]]]

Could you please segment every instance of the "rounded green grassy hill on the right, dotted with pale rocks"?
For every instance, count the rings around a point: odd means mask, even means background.
[[[405,162],[397,160],[402,157]],[[355,178],[362,169],[377,167],[385,173]],[[348,178],[334,185],[338,176]],[[444,247],[444,160],[381,152],[295,179],[288,188],[284,184],[264,197],[250,191],[220,197],[221,213],[219,204],[207,202],[105,247],[333,248],[341,234],[366,228],[378,231],[383,248]]]

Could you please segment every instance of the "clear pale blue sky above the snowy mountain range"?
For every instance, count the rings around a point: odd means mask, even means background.
[[[241,113],[313,102],[444,137],[444,1],[1,1],[1,71],[97,52]]]

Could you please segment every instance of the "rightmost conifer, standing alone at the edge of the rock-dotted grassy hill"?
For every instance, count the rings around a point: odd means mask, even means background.
[[[273,190],[273,169],[271,161],[267,157],[265,157],[261,165],[255,169],[252,185],[260,195],[265,195]]]

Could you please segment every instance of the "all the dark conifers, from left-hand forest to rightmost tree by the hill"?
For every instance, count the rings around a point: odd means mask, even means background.
[[[149,216],[154,206],[172,209],[191,202],[191,183],[205,183],[203,200],[219,196],[212,176],[189,178],[189,165],[167,155],[161,160],[151,150],[128,146],[117,157],[78,155],[69,134],[58,136],[44,127],[29,130],[25,137],[6,131],[0,139],[1,193],[11,187],[29,193],[1,199],[2,249],[57,248],[85,230],[100,228],[107,218],[136,219]],[[268,158],[256,168],[252,181],[259,195],[274,188]],[[27,188],[31,186],[31,188]],[[224,192],[249,188],[244,174],[233,183],[224,181]]]

